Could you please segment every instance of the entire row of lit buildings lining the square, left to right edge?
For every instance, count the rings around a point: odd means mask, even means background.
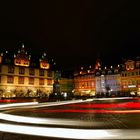
[[[74,78],[63,77],[60,73],[51,69],[46,53],[34,61],[24,45],[14,55],[6,51],[0,54],[0,98],[49,96],[52,92],[89,96],[140,95],[140,58],[110,68],[101,68],[97,61],[95,67],[81,67]]]

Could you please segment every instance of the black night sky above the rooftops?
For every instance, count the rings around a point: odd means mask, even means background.
[[[104,65],[140,55],[140,8],[128,0],[4,0],[0,2],[0,49],[21,43],[47,51],[62,67]]]

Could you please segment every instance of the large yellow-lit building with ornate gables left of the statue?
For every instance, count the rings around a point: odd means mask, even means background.
[[[10,55],[6,51],[0,56],[0,97],[42,97],[52,92],[54,72],[46,53],[38,62],[32,62],[22,45],[17,54],[12,58]]]

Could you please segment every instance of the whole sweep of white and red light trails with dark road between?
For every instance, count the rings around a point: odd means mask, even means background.
[[[9,104],[9,107],[7,105],[0,107],[1,132],[47,137],[47,139],[48,137],[85,140],[139,139],[140,127],[137,118],[137,114],[140,114],[139,101],[116,102],[113,98],[112,101],[105,102],[88,99],[36,102],[26,106],[19,103],[14,106]],[[136,118],[138,129],[133,129],[134,122],[128,123],[132,120],[128,118],[129,116]]]

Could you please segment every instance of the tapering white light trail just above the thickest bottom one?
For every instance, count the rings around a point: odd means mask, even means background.
[[[54,119],[54,118],[35,118],[35,117],[24,117],[18,115],[10,115],[0,113],[0,119],[18,123],[29,123],[29,124],[41,124],[41,125],[63,125],[63,126],[99,126],[101,122],[89,122],[82,120],[72,119]]]

